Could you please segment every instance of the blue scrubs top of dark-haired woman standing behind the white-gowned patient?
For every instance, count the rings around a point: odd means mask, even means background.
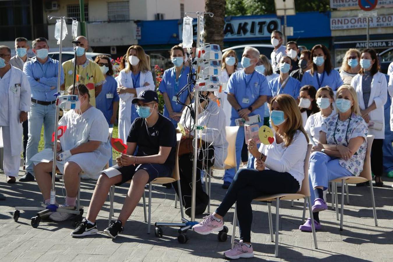
[[[113,102],[119,102],[120,100],[116,91],[118,83],[110,75],[105,80],[106,82],[103,84],[101,92],[95,97],[95,107],[104,114],[109,127],[113,127],[113,124],[110,123],[110,118],[113,114]]]

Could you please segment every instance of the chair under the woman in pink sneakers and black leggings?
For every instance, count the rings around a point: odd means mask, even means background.
[[[255,198],[255,201],[267,202],[268,203],[268,211],[269,211],[269,227],[270,227],[270,238],[272,242],[273,239],[273,225],[272,225],[272,210],[271,210],[271,202],[276,201],[276,215],[275,215],[275,257],[278,257],[278,234],[279,234],[279,208],[280,208],[280,200],[298,200],[304,198],[304,209],[303,209],[303,221],[304,223],[304,212],[306,208],[307,202],[309,203],[310,210],[310,218],[311,218],[311,227],[312,227],[312,235],[314,237],[314,246],[318,249],[317,238],[315,234],[315,226],[314,226],[314,217],[312,216],[311,209],[311,200],[310,200],[310,185],[309,185],[309,159],[312,145],[308,145],[306,157],[304,159],[304,179],[301,184],[301,189],[298,193],[295,194],[273,194],[273,195],[263,195]],[[308,201],[307,201],[308,200]],[[233,214],[233,229],[232,229],[232,240],[231,247],[233,247],[233,242],[235,240],[236,234],[236,225],[237,225],[237,214],[236,214],[236,204],[235,204],[235,213]]]

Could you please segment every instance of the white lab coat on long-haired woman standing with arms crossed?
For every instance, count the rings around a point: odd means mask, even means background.
[[[124,69],[120,71],[118,75],[118,86],[125,86],[127,88],[134,88],[132,84],[132,72],[126,72]],[[148,86],[143,86],[145,82],[148,82]],[[136,93],[139,94],[143,90],[154,90],[154,81],[153,75],[151,71],[142,72],[139,77],[139,83],[141,87],[136,88]],[[131,128],[131,110],[132,110],[132,99],[136,97],[131,93],[122,93],[119,95],[120,103],[119,103],[119,138],[123,140],[123,142],[127,141],[128,134]]]

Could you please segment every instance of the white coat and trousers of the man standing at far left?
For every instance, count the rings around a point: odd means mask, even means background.
[[[4,172],[6,176],[18,176],[22,151],[22,123],[20,112],[30,111],[30,84],[26,75],[11,66],[0,79],[0,128],[4,144]],[[12,136],[11,136],[12,134]]]

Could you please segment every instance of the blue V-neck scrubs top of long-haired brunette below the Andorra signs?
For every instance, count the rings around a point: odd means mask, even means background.
[[[318,90],[320,87],[329,86],[333,91],[336,91],[340,86],[344,84],[341,79],[340,73],[337,70],[332,69],[329,75],[326,71],[323,71],[322,74],[317,74],[314,72],[314,75],[311,75],[311,70],[307,70],[303,78],[301,79],[301,86],[306,84],[312,85]]]

